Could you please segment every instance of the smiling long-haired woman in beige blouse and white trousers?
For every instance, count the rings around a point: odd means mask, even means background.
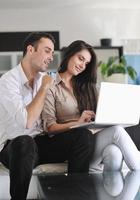
[[[70,127],[94,119],[97,106],[97,65],[93,47],[74,41],[64,53],[53,86],[48,90],[43,111],[48,134],[66,135]],[[140,169],[140,155],[127,132],[112,126],[89,135],[92,152],[90,171],[120,170],[124,159],[130,170]],[[74,129],[71,130],[71,132]],[[82,135],[82,133],[80,133]]]

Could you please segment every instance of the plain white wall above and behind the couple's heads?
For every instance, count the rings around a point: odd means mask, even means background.
[[[134,1],[137,0],[132,5]],[[61,47],[76,39],[99,45],[100,38],[110,37],[114,45],[120,45],[121,39],[140,38],[140,6],[121,7],[121,3],[98,6],[93,4],[94,0],[70,2],[1,9],[0,31],[60,31]]]

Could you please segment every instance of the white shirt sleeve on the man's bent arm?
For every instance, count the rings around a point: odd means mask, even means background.
[[[10,82],[0,86],[0,107],[4,118],[18,126],[26,128],[27,110],[19,84]],[[4,120],[4,119],[3,119]]]

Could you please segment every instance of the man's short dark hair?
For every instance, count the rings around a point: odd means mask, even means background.
[[[47,32],[31,32],[29,33],[29,35],[25,38],[23,42],[23,56],[25,56],[27,52],[27,46],[28,45],[34,46],[35,44],[38,43],[38,41],[41,38],[48,38],[55,44],[55,39],[51,34]]]

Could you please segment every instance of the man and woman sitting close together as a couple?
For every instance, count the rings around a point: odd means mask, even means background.
[[[12,200],[26,199],[39,164],[68,160],[68,173],[86,173],[121,170],[124,159],[130,170],[140,169],[139,151],[122,127],[69,129],[95,116],[96,55],[84,41],[71,43],[53,80],[41,72],[54,44],[49,34],[29,34],[21,63],[0,79],[0,162],[9,169]]]

